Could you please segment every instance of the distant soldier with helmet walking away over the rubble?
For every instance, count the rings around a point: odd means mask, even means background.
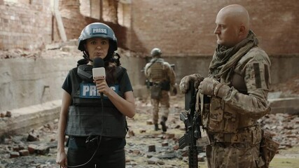
[[[169,114],[169,91],[176,94],[176,75],[172,66],[168,62],[165,62],[161,58],[161,50],[159,48],[153,48],[151,50],[151,62],[148,62],[144,68],[144,74],[148,78],[151,85],[151,104],[153,105],[153,123],[155,130],[160,130],[158,127],[158,112],[159,104],[162,111],[162,117],[160,124],[162,125],[162,131],[166,132],[167,127],[165,125]]]

